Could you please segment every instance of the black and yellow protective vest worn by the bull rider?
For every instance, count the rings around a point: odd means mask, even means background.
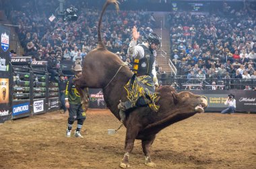
[[[144,56],[141,59],[134,59],[133,60],[133,72],[138,75],[150,75],[152,73],[152,66],[155,61],[155,56],[153,54],[153,51],[150,51],[149,48],[147,48],[144,45],[139,45],[144,50]]]

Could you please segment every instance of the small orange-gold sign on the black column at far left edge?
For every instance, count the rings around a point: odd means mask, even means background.
[[[0,103],[9,103],[9,78],[0,78]]]

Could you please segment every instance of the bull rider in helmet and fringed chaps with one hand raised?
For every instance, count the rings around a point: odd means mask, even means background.
[[[125,119],[125,110],[132,107],[149,106],[155,112],[159,109],[156,105],[159,97],[154,93],[154,87],[159,87],[155,66],[156,50],[160,48],[161,40],[157,34],[150,33],[146,36],[146,42],[137,45],[139,32],[135,26],[132,36],[128,54],[133,58],[134,74],[125,85],[128,101],[121,101],[118,106],[122,122]]]

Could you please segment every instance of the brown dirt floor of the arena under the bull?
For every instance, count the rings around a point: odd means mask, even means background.
[[[125,127],[107,132],[119,125],[110,111],[90,109],[82,139],[65,137],[67,115],[59,111],[7,121],[0,168],[119,168]],[[256,115],[197,114],[158,133],[151,155],[156,168],[256,168]],[[143,162],[136,140],[131,168],[148,168]]]

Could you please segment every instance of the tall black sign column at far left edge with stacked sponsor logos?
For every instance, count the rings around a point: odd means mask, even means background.
[[[10,30],[0,25],[0,123],[11,119],[9,93],[9,41]]]

